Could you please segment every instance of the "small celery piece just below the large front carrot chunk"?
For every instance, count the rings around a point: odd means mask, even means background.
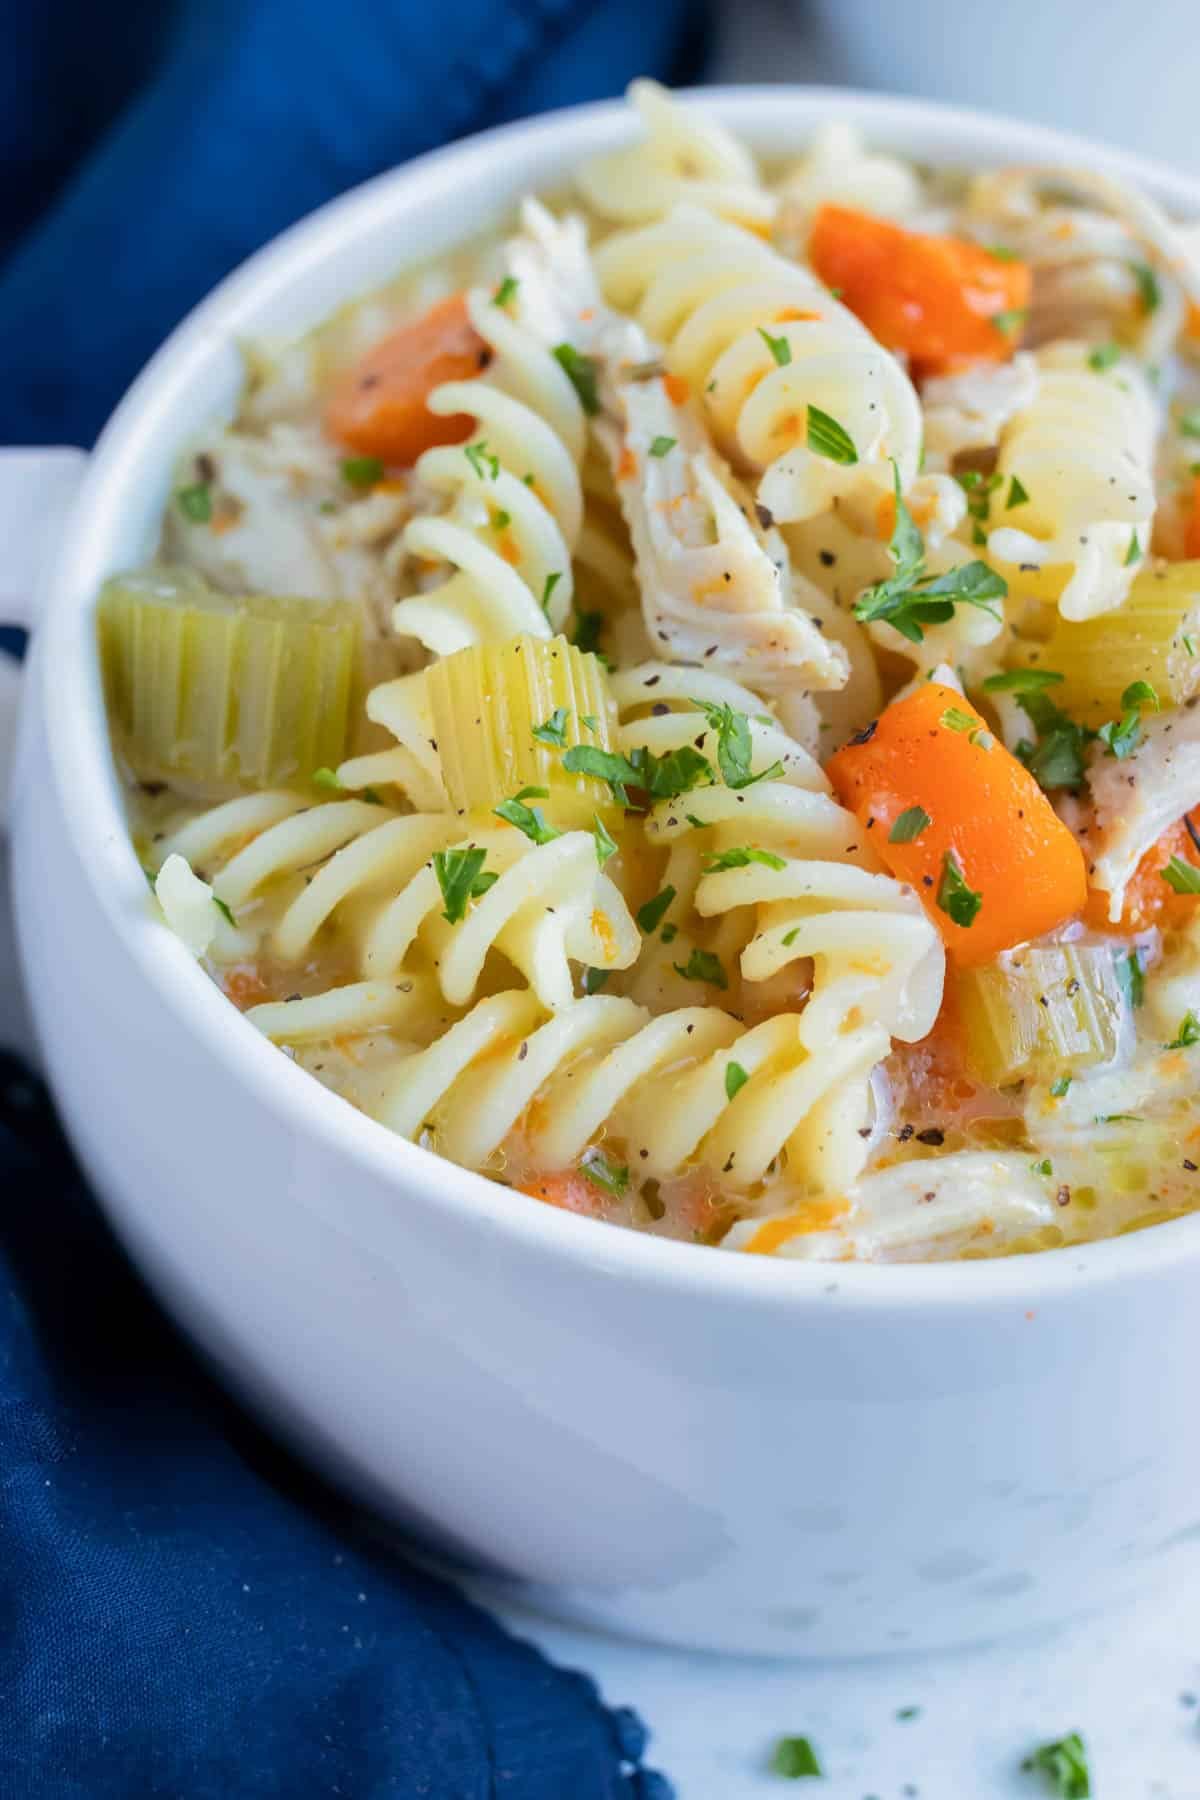
[[[1108,1062],[1124,997],[1108,945],[1011,950],[959,976],[968,1060],[995,1087]]]

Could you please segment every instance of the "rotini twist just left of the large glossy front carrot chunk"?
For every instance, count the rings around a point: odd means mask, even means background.
[[[743,981],[770,981],[811,959],[797,1026],[806,1049],[828,1051],[862,1024],[905,1042],[932,1030],[945,983],[941,938],[912,889],[874,873],[858,821],[828,792],[786,781],[696,788],[685,805],[655,806],[646,835],[671,846],[666,878],[693,889],[700,918],[739,932]]]

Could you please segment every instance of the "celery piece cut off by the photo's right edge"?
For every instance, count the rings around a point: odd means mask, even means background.
[[[1191,700],[1200,691],[1200,562],[1142,569],[1123,607],[1078,625],[1058,619],[1027,661],[1063,677],[1051,698],[1083,725],[1119,718],[1135,680],[1150,682],[1162,706]]]

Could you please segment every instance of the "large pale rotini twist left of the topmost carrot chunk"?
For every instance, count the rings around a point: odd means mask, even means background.
[[[874,508],[892,461],[905,490],[916,481],[912,382],[810,270],[698,207],[608,238],[596,268],[606,299],[637,308],[667,346],[671,374],[702,398],[718,446],[759,477],[759,504],[781,524],[853,497]],[[849,434],[853,463],[810,448],[810,407]]]

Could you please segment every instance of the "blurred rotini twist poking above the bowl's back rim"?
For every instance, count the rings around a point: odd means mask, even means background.
[[[680,106],[657,81],[633,81],[628,99],[644,137],[576,175],[587,203],[619,223],[657,220],[680,200],[747,223],[768,225],[775,202],[759,185],[754,158],[725,126]]]

